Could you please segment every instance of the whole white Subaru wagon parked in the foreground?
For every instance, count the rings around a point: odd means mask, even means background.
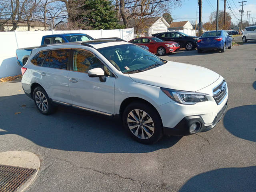
[[[227,84],[216,72],[163,60],[122,40],[41,46],[22,75],[24,92],[42,114],[63,104],[120,116],[125,130],[145,144],[163,134],[210,130],[227,108]]]

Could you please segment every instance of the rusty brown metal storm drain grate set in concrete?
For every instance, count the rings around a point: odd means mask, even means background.
[[[35,172],[35,169],[0,165],[0,192],[16,191]]]

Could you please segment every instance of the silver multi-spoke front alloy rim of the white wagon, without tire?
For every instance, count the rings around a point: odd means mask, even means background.
[[[130,131],[140,139],[148,139],[154,134],[154,122],[143,110],[132,110],[128,114],[127,123]]]

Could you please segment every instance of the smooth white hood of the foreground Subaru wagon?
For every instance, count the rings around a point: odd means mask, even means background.
[[[139,83],[193,92],[209,86],[220,77],[216,72],[204,67],[170,61],[129,76]]]

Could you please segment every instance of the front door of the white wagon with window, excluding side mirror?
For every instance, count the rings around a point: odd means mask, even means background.
[[[100,82],[98,77],[88,76],[88,70],[98,67],[104,70],[106,82]],[[114,114],[115,80],[112,71],[91,52],[72,52],[68,84],[74,106]]]

